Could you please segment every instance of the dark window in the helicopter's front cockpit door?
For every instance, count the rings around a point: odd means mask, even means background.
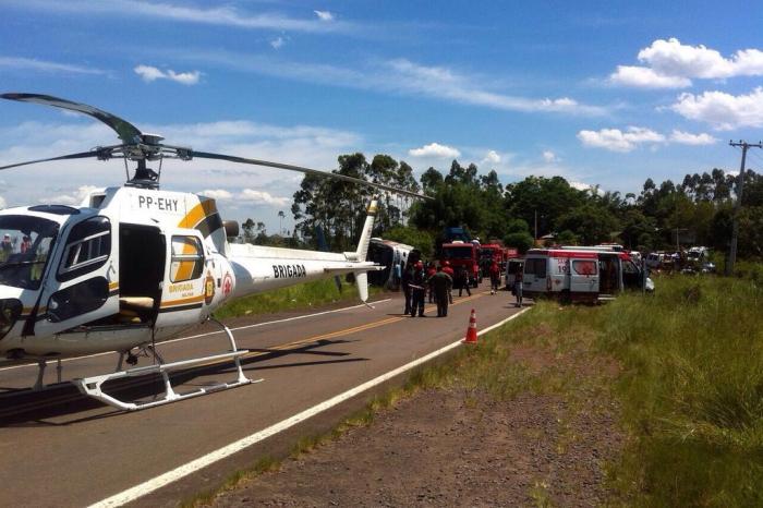
[[[111,253],[111,222],[93,217],[72,228],[58,273],[60,281],[71,280],[100,267]]]

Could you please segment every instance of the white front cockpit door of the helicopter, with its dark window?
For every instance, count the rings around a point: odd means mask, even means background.
[[[64,242],[46,277],[36,335],[97,324],[119,312],[119,242],[111,221],[95,216],[77,222]]]

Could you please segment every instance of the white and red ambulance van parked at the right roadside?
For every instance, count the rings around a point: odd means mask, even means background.
[[[524,295],[533,299],[597,302],[626,289],[654,291],[654,282],[627,252],[608,247],[531,249],[522,281]]]

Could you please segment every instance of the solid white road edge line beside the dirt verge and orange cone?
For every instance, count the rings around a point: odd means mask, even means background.
[[[496,323],[493,326],[488,326],[487,328],[477,331],[477,336],[487,334],[488,331],[502,326],[504,324],[510,322],[511,319],[516,318],[517,316],[520,316],[524,314],[526,311],[529,311],[530,307],[524,309],[517,314],[513,314],[506,319]],[[230,445],[223,446],[222,448],[219,448],[215,451],[211,451],[203,457],[199,457],[198,459],[192,460],[191,462],[183,464],[179,468],[173,469],[172,471],[168,471],[164,474],[160,474],[159,476],[156,476],[155,479],[148,480],[146,482],[141,483],[140,485],[135,485],[132,488],[128,488],[126,491],[123,491],[119,494],[116,494],[111,497],[108,497],[104,500],[100,500],[94,505],[90,505],[88,508],[111,508],[111,507],[118,507],[118,506],[123,506],[128,503],[134,501],[135,499],[138,499],[146,494],[150,494],[166,485],[169,485],[172,482],[175,482],[184,476],[187,476],[189,474],[195,473],[202,468],[206,468],[207,465],[210,465],[219,460],[222,460],[227,457],[230,457],[231,455],[243,450],[244,448],[249,448],[252,445],[255,445],[272,435],[278,434],[279,432],[286,431],[289,427],[292,427],[296,425],[300,422],[303,422],[311,416],[315,416],[318,413],[322,413],[323,411],[326,411],[327,409],[330,409],[348,399],[351,399],[352,397],[370,389],[373,388],[377,385],[380,385],[382,383],[391,379],[392,377],[402,374],[405,371],[410,371],[411,368],[421,365],[422,363],[428,362],[433,358],[439,356],[443,353],[446,353],[450,351],[451,349],[458,348],[463,343],[463,340],[460,339],[457,342],[453,342],[451,344],[448,344],[444,348],[438,349],[437,351],[434,351],[429,354],[426,354],[417,360],[414,360],[411,363],[407,363],[405,365],[402,365],[398,368],[395,368],[393,371],[389,371],[386,374],[383,374],[378,377],[375,377],[374,379],[371,379],[366,383],[363,383],[362,385],[359,385],[348,391],[344,391],[343,394],[339,394],[336,397],[332,397],[328,400],[325,400],[316,406],[313,406],[310,409],[306,409],[302,411],[301,413],[294,414],[293,416],[283,420],[279,423],[276,423],[274,425],[270,425],[267,428],[264,428],[262,431],[258,431],[250,436],[246,436],[242,439],[239,439],[237,442],[231,443]]]

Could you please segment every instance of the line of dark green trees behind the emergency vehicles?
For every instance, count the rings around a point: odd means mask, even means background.
[[[554,243],[592,245],[617,242],[630,250],[675,249],[681,244],[726,251],[731,235],[737,177],[722,169],[686,174],[680,183],[646,179],[640,193],[577,189],[562,177],[528,177],[501,184],[495,170],[453,160],[447,172],[431,167],[419,181],[404,161],[363,154],[338,157],[335,173],[423,192],[432,201],[383,193],[374,234],[419,246],[432,255],[435,240],[446,227],[465,227],[483,242],[502,240],[524,251],[534,238],[553,235]],[[295,227],[281,243],[319,249],[319,237],[334,251],[354,249],[375,193],[339,180],[305,176],[294,193],[291,213]],[[739,216],[739,255],[763,256],[763,176],[744,172]],[[249,222],[249,223],[247,223]],[[254,221],[244,223],[256,228]],[[270,242],[253,234],[253,243]],[[270,244],[274,244],[270,242]]]

